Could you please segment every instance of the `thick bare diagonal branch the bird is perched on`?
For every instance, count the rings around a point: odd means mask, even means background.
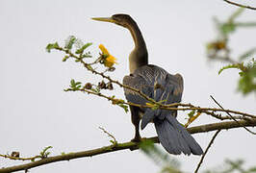
[[[205,133],[205,132],[211,132],[216,130],[223,130],[223,129],[233,129],[233,128],[240,128],[242,126],[246,127],[255,127],[256,126],[256,119],[250,118],[250,120],[240,120],[237,122],[229,121],[229,122],[221,122],[221,123],[213,123],[213,124],[206,124],[201,126],[196,126],[189,128],[188,131],[191,134],[198,134],[198,133]],[[149,137],[146,139],[152,140],[154,143],[159,143],[158,137]],[[38,167],[43,164],[48,164],[51,162],[57,162],[57,161],[70,161],[78,158],[86,158],[86,157],[92,157],[104,153],[111,153],[119,150],[126,150],[126,149],[139,149],[140,143],[135,142],[124,142],[124,143],[117,143],[116,145],[109,145],[102,148],[97,148],[93,150],[88,151],[82,151],[82,152],[76,152],[76,153],[69,153],[64,155],[59,155],[55,157],[48,157],[39,161],[29,162],[25,164],[15,165],[11,167],[6,167],[0,169],[0,173],[6,173],[6,172],[14,172],[18,170],[27,170],[33,167]]]

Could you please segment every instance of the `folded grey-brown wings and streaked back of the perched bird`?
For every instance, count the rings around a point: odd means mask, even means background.
[[[123,84],[141,90],[142,93],[163,104],[177,103],[181,101],[183,92],[183,80],[179,74],[170,75],[161,67],[156,65],[144,65],[138,68],[130,76],[125,76]],[[125,97],[129,102],[145,105],[145,100],[138,92],[124,88]],[[145,111],[141,128],[145,127],[148,122],[159,114],[165,118],[169,111],[143,109]],[[161,112],[161,113],[160,113]],[[166,113],[165,113],[166,112]]]

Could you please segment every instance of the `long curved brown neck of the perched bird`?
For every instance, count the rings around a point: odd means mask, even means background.
[[[135,48],[129,56],[130,73],[133,73],[137,68],[148,64],[147,49],[137,23],[132,20],[127,28],[131,32],[135,43]]]

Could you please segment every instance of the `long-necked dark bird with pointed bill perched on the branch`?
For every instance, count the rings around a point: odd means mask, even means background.
[[[162,104],[181,102],[183,93],[183,77],[177,73],[169,74],[165,69],[155,64],[148,64],[148,52],[144,38],[137,22],[125,13],[116,13],[111,17],[93,17],[93,20],[111,22],[128,29],[134,40],[134,49],[129,55],[130,75],[123,78],[123,85],[139,89],[147,97]],[[140,93],[124,87],[127,101],[146,105],[147,99]],[[202,155],[200,145],[187,129],[176,119],[177,111],[141,108],[130,106],[132,123],[135,126],[134,142],[141,141],[141,130],[153,122],[159,141],[169,154],[190,156]]]

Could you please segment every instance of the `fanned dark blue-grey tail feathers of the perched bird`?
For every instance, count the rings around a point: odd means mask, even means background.
[[[170,154],[179,155],[202,155],[200,145],[177,119],[168,114],[163,119],[154,118],[155,128],[166,151]]]

